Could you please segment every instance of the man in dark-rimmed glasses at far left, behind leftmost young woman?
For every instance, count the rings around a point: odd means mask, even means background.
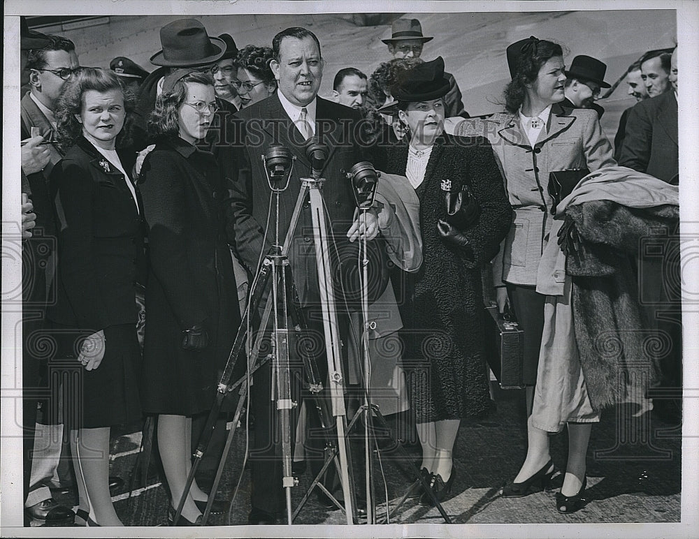
[[[24,23],[24,21],[23,21]],[[30,34],[27,27],[24,34]],[[27,64],[24,72],[28,75],[29,91],[20,102],[20,130],[22,134],[22,193],[31,197],[36,214],[36,226],[32,237],[26,245],[31,250],[31,272],[29,286],[23,290],[24,307],[22,309],[27,322],[23,324],[24,341],[36,340],[36,332],[43,332],[44,309],[48,303],[47,290],[53,278],[53,253],[55,251],[55,224],[48,189],[48,177],[54,165],[62,158],[62,152],[55,145],[56,120],[54,110],[56,102],[66,81],[78,68],[78,55],[75,45],[61,36],[45,36],[36,32],[36,37],[27,47]],[[22,36],[24,42],[24,35]],[[24,43],[22,43],[24,48]],[[25,268],[23,267],[23,270]],[[34,372],[36,379],[29,386],[38,384],[38,359],[32,357],[31,346],[24,346],[24,368]],[[24,378],[25,381],[28,378]],[[31,403],[31,404],[29,404]],[[34,405],[36,418],[36,401],[28,401],[25,406]],[[44,409],[45,413],[45,409]],[[62,450],[62,424],[48,423],[48,418],[38,418],[34,436],[34,452],[31,457],[31,472],[24,512],[36,522],[66,522],[73,519],[73,511],[57,503],[52,498],[49,487],[58,475],[58,464]],[[34,420],[31,421],[34,423]],[[31,424],[30,428],[34,428]],[[27,464],[25,464],[26,466]]]

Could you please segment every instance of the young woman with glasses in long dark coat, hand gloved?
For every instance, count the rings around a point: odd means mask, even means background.
[[[173,506],[192,466],[192,415],[211,408],[240,324],[225,232],[227,191],[214,156],[196,147],[215,103],[208,73],[168,75],[149,121],[159,142],[140,172],[150,256],[143,409],[159,416]],[[178,525],[196,523],[206,499],[194,482]]]

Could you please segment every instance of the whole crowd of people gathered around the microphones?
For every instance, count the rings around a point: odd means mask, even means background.
[[[27,519],[124,524],[110,494],[120,481],[109,475],[110,429],[150,417],[171,495],[168,524],[201,522],[208,494],[196,480],[187,485],[201,434],[193,418],[212,408],[248,285],[279,238],[288,237],[295,299],[320,343],[304,351],[327,382],[308,201],[288,230],[301,179],[314,175],[325,179],[348,416],[367,389],[361,354],[352,353],[361,348],[353,320],[364,243],[378,267],[367,287],[369,320],[359,326],[372,330],[370,385],[383,394],[403,388],[381,406],[412,411],[405,418],[421,448],[419,503],[451,494],[460,422],[491,411],[490,294],[524,330],[528,445],[502,496],[547,487],[549,434],[567,428],[556,508],[581,508],[592,425],[633,385],[663,420],[681,421],[677,47],[629,66],[628,93],[638,103],[624,111],[612,148],[598,103],[611,86],[607,66],[580,54],[566,68],[561,44],[534,36],[507,47],[505,110],[478,118],[466,112],[444,59],[421,58],[432,38],[416,19],[394,21],[384,40],[390,59],[373,73],[338,71],[329,99],[318,96],[325,62],[308,29],[238,49],[229,34],[212,37],[198,20],[182,19],[160,38],[152,73],[126,57],[81,67],[71,40],[30,31],[22,19]],[[309,142],[326,145],[322,170],[306,153]],[[294,166],[273,202],[260,156],[275,145],[289,149]],[[381,172],[366,212],[346,177],[361,161]],[[553,193],[549,177],[571,171],[568,191]],[[658,227],[668,231],[656,238],[664,249],[640,249]],[[662,353],[649,357],[648,334],[668,343]],[[382,345],[391,336],[402,346]],[[619,354],[600,350],[603,336],[624,344]],[[45,338],[54,343],[49,353]],[[329,391],[310,394],[301,345],[291,350],[291,394],[301,405],[291,411],[294,473],[308,462],[315,475],[324,463],[317,433],[327,427],[317,402]],[[250,524],[278,523],[284,513],[275,376],[271,362],[253,375]],[[62,481],[64,437],[75,510],[50,491]],[[362,459],[354,462],[363,478]],[[342,502],[336,470],[322,481],[332,496],[319,492],[318,501]],[[355,485],[361,517],[367,504],[363,483]],[[224,510],[217,502],[213,511]]]

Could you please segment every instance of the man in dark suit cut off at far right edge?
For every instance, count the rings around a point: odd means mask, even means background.
[[[671,91],[636,103],[628,115],[619,165],[679,185],[677,143],[677,47],[670,60]],[[660,380],[649,392],[654,413],[665,422],[682,420],[682,302],[679,231],[669,230],[662,256],[640,253],[640,299],[651,330],[670,344],[658,360]]]

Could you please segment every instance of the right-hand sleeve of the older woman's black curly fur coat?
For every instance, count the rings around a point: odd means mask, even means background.
[[[505,195],[493,149],[486,139],[475,140],[477,144],[472,147],[468,163],[468,182],[481,214],[477,223],[464,232],[475,255],[473,264],[467,261],[468,267],[490,262],[512,223],[512,206]]]

